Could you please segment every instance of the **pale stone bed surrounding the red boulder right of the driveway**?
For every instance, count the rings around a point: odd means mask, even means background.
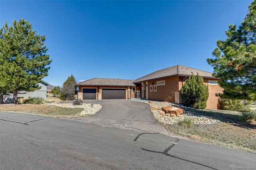
[[[209,125],[209,124],[214,124],[218,123],[219,120],[212,119],[211,117],[207,116],[202,116],[202,115],[194,115],[191,112],[184,111],[184,113],[180,117],[173,117],[173,116],[164,116],[160,114],[160,111],[162,107],[164,106],[175,106],[175,107],[180,107],[180,108],[189,108],[190,107],[185,107],[183,105],[176,105],[174,103],[169,103],[169,102],[158,102],[158,101],[153,101],[152,103],[148,103],[151,108],[151,112],[153,113],[155,119],[159,121],[160,123],[168,124],[168,125],[174,125],[178,123],[179,120],[185,119],[185,117],[190,117],[194,120],[194,124],[197,125]]]

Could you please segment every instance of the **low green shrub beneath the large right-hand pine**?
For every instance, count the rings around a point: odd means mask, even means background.
[[[252,101],[240,99],[220,99],[220,109],[228,111],[243,111],[250,109]]]

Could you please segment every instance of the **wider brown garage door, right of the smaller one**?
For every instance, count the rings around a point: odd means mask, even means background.
[[[125,89],[102,89],[102,99],[126,99]]]

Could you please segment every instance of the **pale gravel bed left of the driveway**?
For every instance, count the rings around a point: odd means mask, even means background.
[[[102,105],[91,103],[82,103],[81,105],[73,105],[72,103],[48,103],[46,105],[55,105],[66,108],[83,108],[84,110],[79,113],[79,115],[95,115],[102,109]]]

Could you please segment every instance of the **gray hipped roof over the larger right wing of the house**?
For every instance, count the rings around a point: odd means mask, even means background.
[[[198,70],[198,69],[193,69],[190,67],[186,67],[183,65],[175,65],[172,67],[168,67],[165,69],[161,69],[158,71],[155,71],[154,73],[150,73],[148,75],[145,75],[143,77],[140,77],[136,80],[134,80],[134,83],[140,83],[142,81],[148,81],[148,80],[153,80],[153,79],[159,79],[159,78],[163,78],[163,77],[172,77],[172,76],[190,76],[192,75],[192,73],[194,75],[196,75],[197,73],[202,76],[202,77],[207,77],[207,78],[214,78],[212,76],[212,73],[207,72],[207,71],[202,71],[202,70]]]

